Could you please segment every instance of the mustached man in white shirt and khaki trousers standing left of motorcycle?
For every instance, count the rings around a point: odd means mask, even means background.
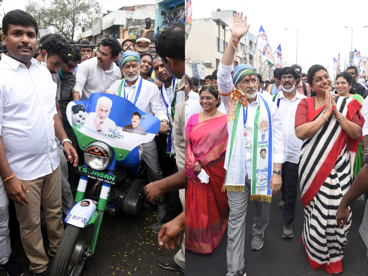
[[[55,135],[63,143],[67,160],[77,166],[78,158],[73,155],[56,113],[56,84],[50,72],[32,58],[37,32],[37,22],[24,11],[13,10],[3,18],[1,38],[8,53],[0,61],[0,187],[5,186],[9,197],[17,203],[29,269],[33,275],[43,276],[47,275],[49,259],[40,229],[41,206],[49,236],[49,255],[56,252],[64,232]]]

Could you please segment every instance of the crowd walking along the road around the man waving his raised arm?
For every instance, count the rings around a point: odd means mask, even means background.
[[[280,235],[294,236],[299,185],[309,265],[339,274],[351,224],[348,204],[368,191],[368,89],[357,82],[355,66],[331,79],[322,65],[305,74],[295,64],[276,68],[270,81],[247,64],[233,68],[249,26],[243,13],[234,14],[217,70],[202,88],[196,78],[185,78],[185,248],[212,253],[227,228],[226,275],[245,276],[248,202],[255,204],[251,249],[260,250],[279,190]],[[199,105],[190,99],[194,91]],[[366,243],[367,217],[368,211],[361,226]]]

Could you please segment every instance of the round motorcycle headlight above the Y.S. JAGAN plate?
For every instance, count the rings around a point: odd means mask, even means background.
[[[112,158],[110,147],[101,141],[91,142],[84,151],[84,160],[94,170],[103,170],[109,166]]]

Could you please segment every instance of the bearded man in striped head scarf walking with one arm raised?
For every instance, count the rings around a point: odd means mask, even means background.
[[[217,71],[217,84],[227,109],[229,139],[223,191],[229,197],[227,228],[227,276],[245,276],[245,214],[249,200],[255,203],[251,249],[263,246],[271,196],[280,190],[284,163],[284,134],[277,106],[258,92],[254,68],[231,67],[239,40],[247,33],[247,17],[234,14],[230,42]],[[235,87],[235,89],[234,89]],[[276,143],[277,144],[276,144]]]

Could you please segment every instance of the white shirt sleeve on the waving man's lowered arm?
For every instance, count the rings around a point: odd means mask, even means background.
[[[285,135],[283,131],[282,120],[279,115],[279,109],[274,102],[268,102],[272,114],[272,132],[273,132],[273,163],[285,162]]]

